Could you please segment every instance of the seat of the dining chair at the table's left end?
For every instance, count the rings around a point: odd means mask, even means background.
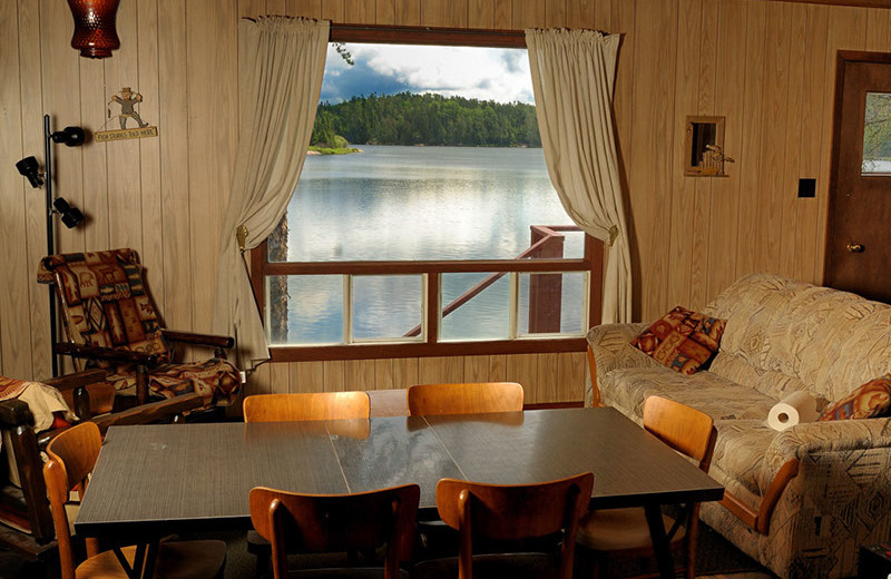
[[[136,547],[121,549],[133,563]],[[226,543],[223,541],[169,541],[160,543],[155,577],[165,579],[213,579],[226,565]],[[80,563],[77,579],[127,579],[114,551],[105,551]]]

